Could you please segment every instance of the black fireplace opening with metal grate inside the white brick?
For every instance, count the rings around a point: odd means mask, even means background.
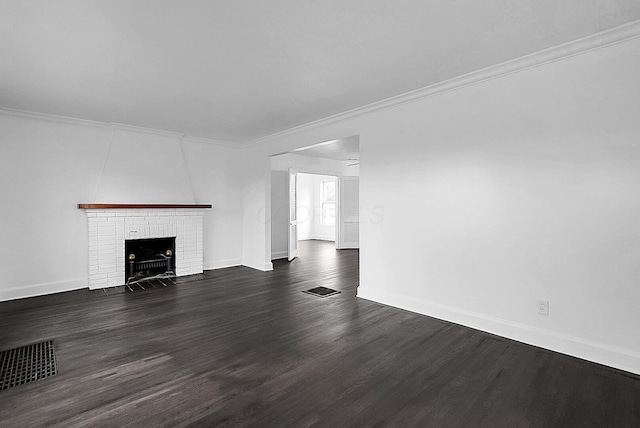
[[[125,283],[176,276],[176,238],[125,241]]]

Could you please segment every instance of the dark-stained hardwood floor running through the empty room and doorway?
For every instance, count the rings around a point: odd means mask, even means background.
[[[0,303],[0,350],[53,339],[59,372],[0,391],[0,426],[640,426],[638,376],[357,285],[356,250],[309,241],[273,272]]]

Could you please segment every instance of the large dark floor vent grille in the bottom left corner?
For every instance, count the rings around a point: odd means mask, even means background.
[[[52,340],[0,352],[0,391],[53,376],[56,372]]]

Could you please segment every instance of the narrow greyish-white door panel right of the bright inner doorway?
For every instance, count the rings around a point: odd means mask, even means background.
[[[340,177],[338,193],[338,241],[336,248],[360,248],[360,181],[358,177]]]

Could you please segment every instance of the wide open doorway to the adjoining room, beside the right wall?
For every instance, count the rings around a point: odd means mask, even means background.
[[[271,157],[272,260],[291,259],[298,241],[359,247],[358,144],[355,136]]]

